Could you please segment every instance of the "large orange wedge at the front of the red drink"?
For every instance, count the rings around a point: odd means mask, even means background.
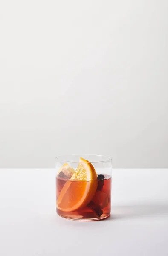
[[[58,196],[57,208],[64,212],[73,212],[87,206],[96,193],[97,185],[97,174],[93,165],[80,158],[78,168]]]

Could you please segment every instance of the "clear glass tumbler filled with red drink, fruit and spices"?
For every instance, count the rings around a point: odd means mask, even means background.
[[[56,211],[78,221],[110,216],[112,158],[102,155],[56,157]]]

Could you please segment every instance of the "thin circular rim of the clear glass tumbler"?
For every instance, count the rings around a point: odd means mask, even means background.
[[[89,163],[105,163],[105,162],[109,162],[109,161],[112,161],[113,158],[110,157],[110,156],[107,156],[107,155],[99,155],[99,154],[67,154],[67,155],[59,155],[57,157],[55,157],[55,159],[58,161],[58,162],[69,162],[69,163],[79,163],[79,161],[67,161],[66,160],[66,157],[75,157],[75,156],[89,156],[89,157],[106,157],[108,158],[107,160],[100,160],[100,161],[89,161]],[[59,157],[63,157],[63,159],[58,159]]]

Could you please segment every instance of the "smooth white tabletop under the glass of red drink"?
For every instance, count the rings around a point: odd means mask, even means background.
[[[115,169],[112,214],[55,212],[54,169],[0,169],[0,256],[168,256],[168,169]]]

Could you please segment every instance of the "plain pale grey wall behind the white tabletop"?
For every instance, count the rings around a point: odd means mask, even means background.
[[[168,1],[0,2],[0,167],[168,167]]]

